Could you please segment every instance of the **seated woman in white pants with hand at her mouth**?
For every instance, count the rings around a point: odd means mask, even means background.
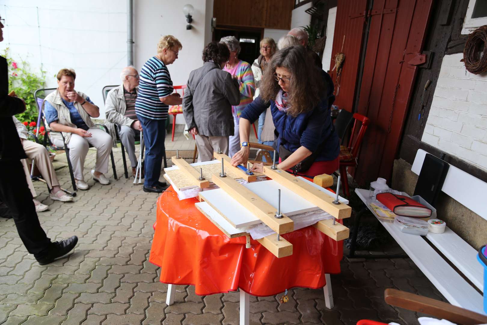
[[[112,151],[112,137],[98,129],[90,117],[100,116],[98,106],[90,97],[75,91],[75,71],[61,69],[57,73],[57,89],[46,96],[43,104],[48,131],[59,131],[69,149],[76,186],[88,190],[83,168],[89,145],[96,148],[96,164],[92,171],[93,179],[102,185],[110,184],[104,173],[108,172],[108,159]],[[50,135],[56,147],[63,147],[60,134]]]

